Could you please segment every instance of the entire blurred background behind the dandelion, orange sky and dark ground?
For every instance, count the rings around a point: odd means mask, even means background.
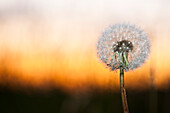
[[[101,32],[129,22],[151,40],[125,73],[131,113],[170,113],[169,0],[0,0],[0,113],[123,113],[119,71],[96,56]]]

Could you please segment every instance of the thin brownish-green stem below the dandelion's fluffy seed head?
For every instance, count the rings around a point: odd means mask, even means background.
[[[124,109],[124,113],[129,113],[128,103],[127,103],[127,98],[126,98],[126,90],[124,87],[124,69],[123,69],[123,67],[120,67],[120,90],[121,90],[122,106]]]

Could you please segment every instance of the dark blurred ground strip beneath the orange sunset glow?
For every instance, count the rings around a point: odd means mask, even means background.
[[[130,113],[170,113],[170,90],[127,91]],[[71,96],[60,90],[12,91],[0,88],[0,113],[123,113],[119,92]]]

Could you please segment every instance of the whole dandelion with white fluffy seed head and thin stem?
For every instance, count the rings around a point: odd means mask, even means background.
[[[115,24],[106,28],[97,43],[99,59],[111,71],[120,70],[120,89],[125,113],[129,113],[124,88],[124,71],[141,66],[150,52],[146,33],[130,24]]]

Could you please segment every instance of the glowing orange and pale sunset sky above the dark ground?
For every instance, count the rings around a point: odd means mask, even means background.
[[[1,0],[0,85],[81,90],[119,88],[119,73],[96,56],[96,43],[109,25],[129,22],[151,40],[148,60],[125,73],[129,89],[170,84],[168,0]]]

